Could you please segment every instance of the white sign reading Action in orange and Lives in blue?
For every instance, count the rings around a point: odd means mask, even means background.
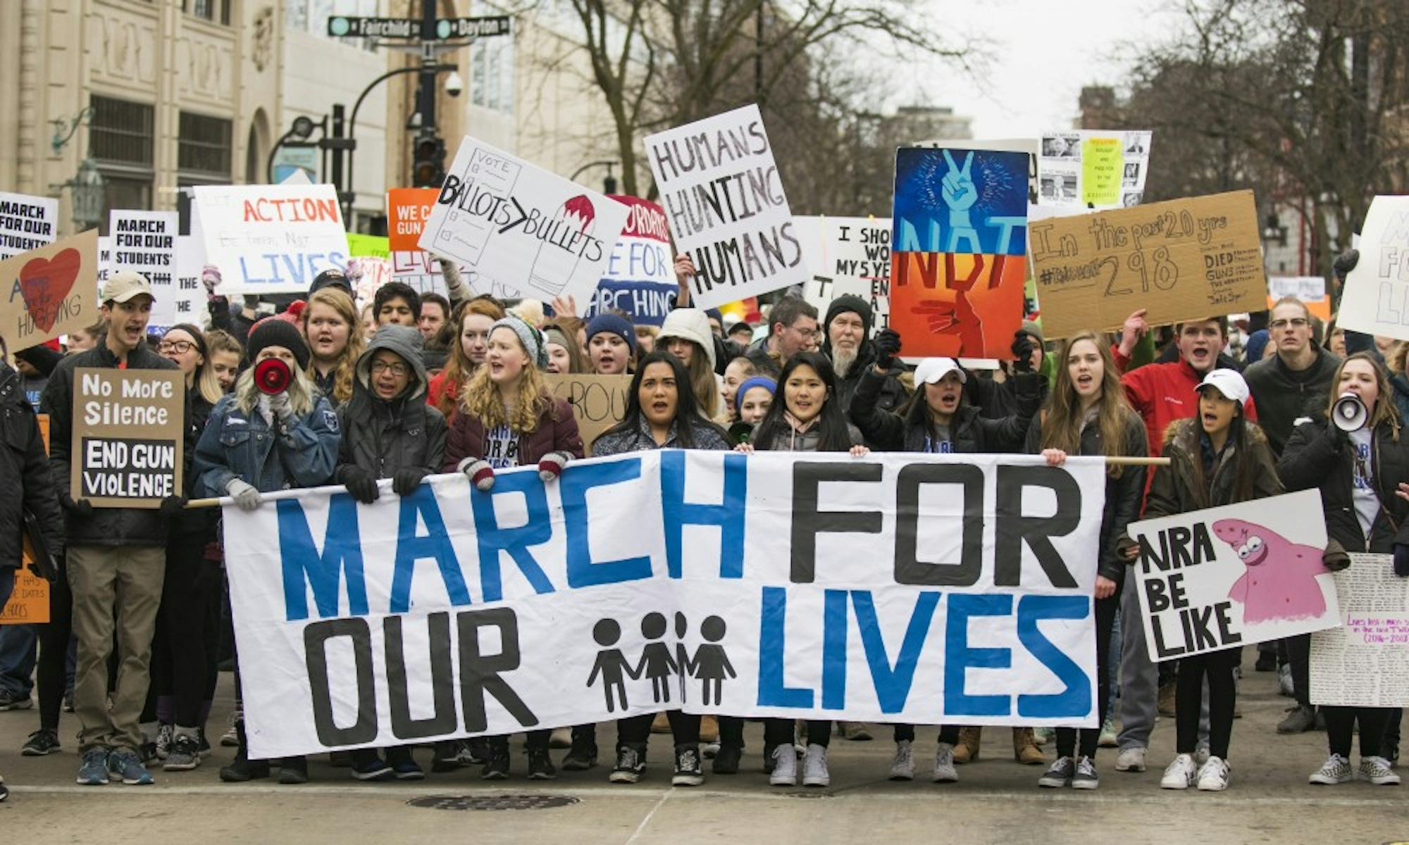
[[[206,261],[221,293],[307,293],[348,259],[331,184],[197,184],[192,189]]]

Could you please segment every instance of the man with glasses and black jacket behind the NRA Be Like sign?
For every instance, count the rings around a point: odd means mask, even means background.
[[[1257,404],[1257,421],[1277,459],[1296,420],[1316,418],[1324,410],[1341,358],[1312,339],[1312,315],[1299,299],[1284,296],[1272,304],[1268,317],[1268,342],[1277,353],[1247,368],[1244,377]],[[1278,734],[1303,734],[1316,727],[1316,708],[1310,703],[1310,634],[1281,641],[1285,655],[1281,670],[1291,673],[1296,706],[1278,722]],[[1267,669],[1267,658],[1261,661]]]

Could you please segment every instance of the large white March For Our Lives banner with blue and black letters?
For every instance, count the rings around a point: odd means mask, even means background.
[[[1103,480],[669,449],[225,507],[251,755],[676,707],[1095,727]]]

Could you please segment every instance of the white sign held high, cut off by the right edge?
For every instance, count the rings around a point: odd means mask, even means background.
[[[1375,197],[1346,276],[1336,325],[1409,341],[1409,196]]]

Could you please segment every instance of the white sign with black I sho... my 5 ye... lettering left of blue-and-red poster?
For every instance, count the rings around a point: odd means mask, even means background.
[[[803,299],[826,314],[831,300],[859,296],[875,314],[872,331],[890,318],[890,221],[876,217],[793,217],[812,279]]]

